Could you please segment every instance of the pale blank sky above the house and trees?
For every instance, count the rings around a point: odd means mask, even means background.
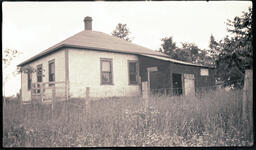
[[[20,75],[9,75],[16,65],[84,30],[83,19],[91,16],[92,29],[107,34],[118,23],[127,24],[132,43],[158,50],[161,39],[173,37],[207,49],[211,34],[221,40],[227,19],[241,16],[250,1],[165,1],[165,2],[3,2],[2,51],[21,51],[3,73],[6,95],[21,88]]]

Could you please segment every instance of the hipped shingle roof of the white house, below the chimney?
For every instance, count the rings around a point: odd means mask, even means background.
[[[84,30],[42,51],[41,53],[22,62],[18,66],[23,66],[25,64],[28,64],[62,47],[83,48],[83,49],[92,49],[92,50],[101,50],[101,51],[110,51],[110,52],[128,53],[128,54],[150,54],[155,56],[168,57],[168,55],[165,55],[163,53],[153,51],[149,48],[142,47],[137,44],[133,44],[131,42],[128,42],[123,39],[119,39],[117,37],[108,35],[103,32]]]

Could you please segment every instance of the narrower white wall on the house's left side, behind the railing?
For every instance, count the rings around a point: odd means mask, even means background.
[[[55,81],[65,81],[65,51],[60,50],[48,56],[42,57],[28,65],[36,68],[37,65],[43,65],[43,81],[42,82],[49,82],[49,66],[48,62],[50,60],[55,60]],[[22,101],[29,101],[31,100],[31,90],[28,90],[28,78],[27,74],[21,74],[21,89],[22,89]],[[37,82],[36,72],[32,74],[32,83]],[[58,85],[56,85],[58,86]],[[59,85],[60,86],[60,85]],[[64,86],[64,85],[61,85]],[[46,91],[47,92],[47,91]]]

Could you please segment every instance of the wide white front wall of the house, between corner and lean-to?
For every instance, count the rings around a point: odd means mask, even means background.
[[[71,97],[138,96],[139,85],[129,85],[128,60],[137,60],[136,55],[103,51],[69,49],[69,94]],[[100,59],[112,59],[113,85],[101,85]]]

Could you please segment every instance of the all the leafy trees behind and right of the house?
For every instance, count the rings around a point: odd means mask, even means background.
[[[230,35],[219,41],[211,35],[208,49],[200,49],[188,42],[178,47],[170,36],[161,39],[162,44],[157,51],[172,59],[214,66],[217,82],[222,82],[224,87],[242,88],[245,69],[253,67],[252,8],[233,20],[227,19],[226,25]],[[130,33],[126,24],[119,23],[112,35],[131,42]]]

